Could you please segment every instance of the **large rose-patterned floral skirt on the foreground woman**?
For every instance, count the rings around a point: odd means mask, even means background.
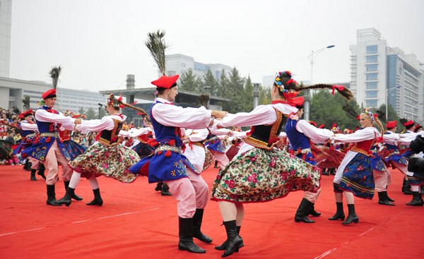
[[[261,203],[292,191],[316,193],[320,179],[321,169],[284,150],[253,148],[218,173],[211,200]]]

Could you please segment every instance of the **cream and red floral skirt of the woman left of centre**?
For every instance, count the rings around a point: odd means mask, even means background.
[[[131,174],[129,167],[139,162],[139,155],[124,145],[108,147],[95,143],[76,159],[69,162],[69,166],[81,173],[81,176],[90,178],[97,176],[112,177],[123,183],[132,183],[137,175]]]

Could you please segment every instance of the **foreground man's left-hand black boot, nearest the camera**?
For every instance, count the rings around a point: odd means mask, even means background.
[[[193,218],[184,219],[182,217],[178,217],[178,219],[178,249],[189,251],[190,253],[206,253],[206,250],[200,248],[193,242]]]

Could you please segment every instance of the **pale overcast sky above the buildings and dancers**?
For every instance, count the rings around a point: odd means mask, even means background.
[[[376,28],[389,47],[424,63],[422,0],[13,0],[10,77],[59,88],[151,87],[158,70],[145,45],[148,32],[164,30],[165,54],[184,54],[204,64],[235,67],[261,83],[292,71],[314,83],[350,81],[350,45],[358,29]]]

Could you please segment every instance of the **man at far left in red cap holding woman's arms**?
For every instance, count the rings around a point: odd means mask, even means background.
[[[62,179],[69,181],[71,179],[72,169],[68,162],[71,159],[69,152],[59,139],[60,124],[78,123],[80,119],[73,119],[64,116],[61,112],[53,109],[56,104],[56,89],[52,88],[42,94],[43,106],[35,111],[35,121],[40,131],[39,138],[33,141],[33,145],[23,150],[23,154],[34,157],[42,161],[47,169],[46,185],[47,185],[47,205],[61,206],[57,203],[54,186],[59,176],[59,163],[62,167]]]

